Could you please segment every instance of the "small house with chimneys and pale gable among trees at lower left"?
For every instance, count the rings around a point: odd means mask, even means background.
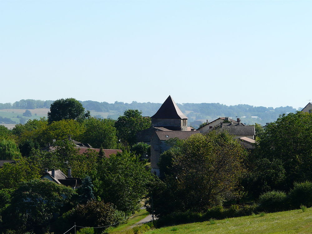
[[[48,179],[57,184],[70,186],[72,189],[76,189],[81,186],[80,178],[71,177],[71,167],[68,167],[67,176],[61,170],[52,168],[51,171],[48,171],[48,168],[45,168],[45,173],[41,176],[41,179]]]

